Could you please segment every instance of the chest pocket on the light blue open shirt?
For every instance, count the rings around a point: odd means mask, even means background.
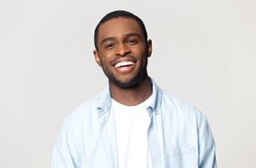
[[[197,168],[197,158],[195,146],[169,148],[165,151],[167,168]]]

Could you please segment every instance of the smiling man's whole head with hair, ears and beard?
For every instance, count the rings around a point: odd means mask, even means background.
[[[101,19],[94,37],[95,60],[111,85],[133,88],[147,77],[152,43],[139,17],[125,11],[112,12]]]

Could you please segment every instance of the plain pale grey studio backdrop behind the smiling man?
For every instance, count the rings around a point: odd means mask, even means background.
[[[65,117],[105,88],[92,54],[102,16],[140,16],[148,71],[210,123],[219,167],[255,168],[256,12],[252,0],[0,0],[0,167],[50,167]]]

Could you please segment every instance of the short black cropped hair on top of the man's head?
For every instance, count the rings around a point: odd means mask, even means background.
[[[117,18],[117,17],[133,18],[141,27],[143,34],[144,34],[144,40],[145,41],[147,40],[147,32],[146,32],[146,29],[144,26],[144,22],[140,17],[135,16],[131,12],[127,12],[124,10],[116,10],[116,11],[113,11],[113,12],[107,14],[106,16],[103,16],[101,18],[101,21],[98,23],[98,25],[96,26],[96,28],[94,30],[94,46],[97,50],[98,50],[97,42],[98,42],[99,28],[100,28],[101,24],[111,20],[112,18]]]

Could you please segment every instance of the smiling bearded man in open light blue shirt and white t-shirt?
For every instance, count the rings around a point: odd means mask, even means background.
[[[143,21],[114,11],[95,28],[94,43],[109,86],[69,115],[52,168],[217,167],[204,115],[149,78],[152,41]]]

